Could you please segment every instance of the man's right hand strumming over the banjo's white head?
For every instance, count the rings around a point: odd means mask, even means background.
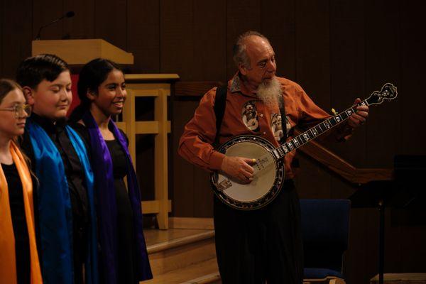
[[[249,158],[225,156],[221,170],[242,183],[249,183],[253,180],[254,170],[251,165],[254,163],[256,160]]]

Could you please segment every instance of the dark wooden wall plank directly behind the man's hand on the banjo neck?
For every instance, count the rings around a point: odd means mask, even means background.
[[[366,98],[364,69],[364,2],[330,1],[330,80],[331,107],[344,111],[356,97]],[[327,109],[329,111],[329,109]],[[352,165],[366,168],[366,129],[357,129],[346,143],[334,143],[333,151]],[[341,178],[332,176],[332,198],[349,198],[356,190]],[[346,283],[365,282],[366,213],[351,210],[349,247],[344,256]]]

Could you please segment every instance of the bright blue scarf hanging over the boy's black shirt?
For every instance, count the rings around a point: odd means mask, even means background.
[[[43,283],[72,284],[72,209],[64,164],[55,143],[41,126],[28,119],[26,131],[31,138],[35,172],[40,180],[38,228],[41,240],[40,263]],[[82,139],[69,126],[65,127],[65,131],[85,173],[90,214],[88,253],[85,264],[86,283],[97,284],[97,232],[93,173]]]

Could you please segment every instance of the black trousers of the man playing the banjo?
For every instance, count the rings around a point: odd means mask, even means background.
[[[301,284],[300,203],[293,180],[275,200],[253,211],[232,209],[214,197],[217,262],[224,284]]]

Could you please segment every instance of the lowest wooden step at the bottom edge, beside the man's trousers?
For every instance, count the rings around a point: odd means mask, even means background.
[[[217,268],[216,258],[194,263],[190,266],[169,271],[143,283],[154,284],[219,284],[222,283]]]

